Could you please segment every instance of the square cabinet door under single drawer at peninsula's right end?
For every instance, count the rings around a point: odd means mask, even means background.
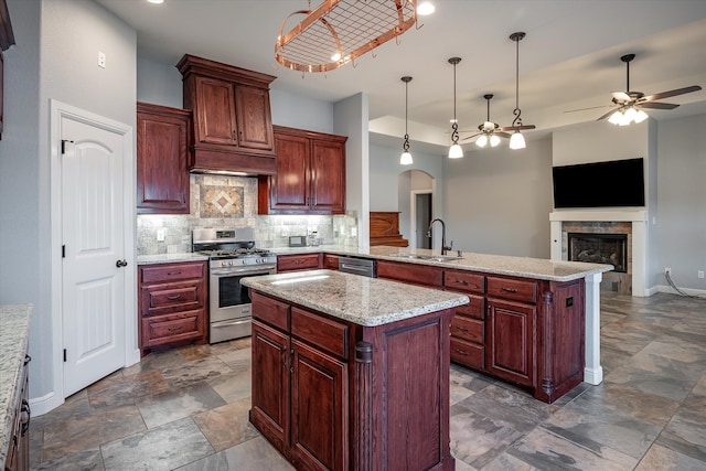
[[[488,371],[501,378],[532,386],[535,371],[535,321],[533,306],[488,300]]]

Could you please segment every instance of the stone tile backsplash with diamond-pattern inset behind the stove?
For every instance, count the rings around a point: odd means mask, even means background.
[[[352,228],[357,220],[335,216],[260,216],[257,214],[257,179],[192,174],[189,215],[137,216],[137,254],[191,251],[191,232],[201,227],[254,227],[260,248],[287,247],[289,236],[317,233],[322,244],[356,245]],[[158,240],[163,233],[164,240]]]

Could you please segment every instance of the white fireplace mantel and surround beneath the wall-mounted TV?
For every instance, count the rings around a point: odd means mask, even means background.
[[[550,254],[553,260],[561,260],[561,224],[564,222],[629,222],[632,223],[632,296],[649,296],[648,267],[648,212],[646,210],[571,210],[549,213],[552,225]]]

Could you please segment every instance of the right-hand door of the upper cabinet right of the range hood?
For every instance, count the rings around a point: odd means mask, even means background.
[[[312,210],[345,212],[345,143],[311,140]]]

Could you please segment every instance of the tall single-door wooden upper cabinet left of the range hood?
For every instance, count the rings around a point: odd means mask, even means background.
[[[137,104],[137,212],[189,214],[191,111]]]

